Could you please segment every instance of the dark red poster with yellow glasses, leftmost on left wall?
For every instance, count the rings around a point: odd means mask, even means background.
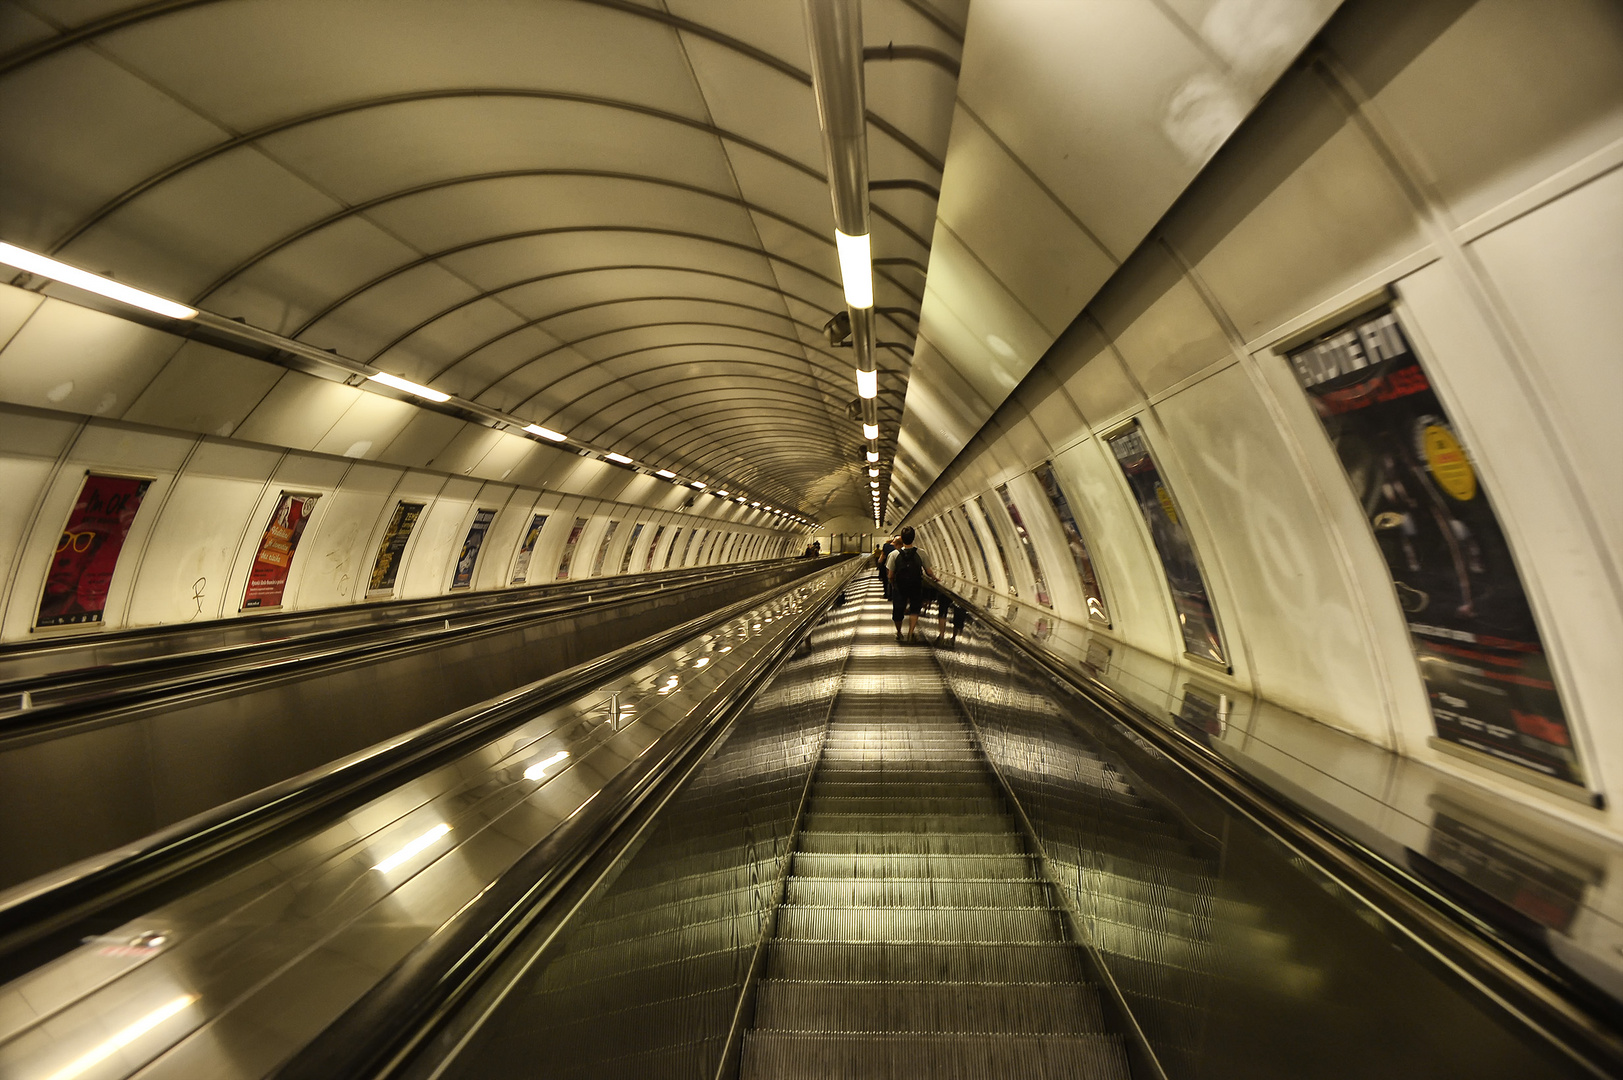
[[[141,499],[153,481],[128,476],[84,477],[80,497],[68,513],[57,541],[57,554],[45,573],[34,625],[71,627],[101,622],[107,611],[107,590],[118,567],[123,539],[130,534]]]

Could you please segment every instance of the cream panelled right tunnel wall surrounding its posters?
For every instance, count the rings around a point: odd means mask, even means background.
[[[1498,512],[1591,786],[1612,791],[1623,770],[1618,57],[1623,8],[1605,0],[1344,6],[907,521],[935,523],[927,536],[946,562],[971,559],[984,578],[954,510],[984,497],[1029,599],[1035,581],[995,494],[1010,484],[1057,614],[1086,624],[1032,474],[1052,461],[1110,606],[1100,633],[1505,786],[1428,744],[1391,573],[1284,357],[1389,291]],[[1102,438],[1133,419],[1190,531],[1230,672],[1183,654],[1144,518]],[[993,585],[1010,588],[988,555]],[[1610,810],[1508,786],[1618,832]]]

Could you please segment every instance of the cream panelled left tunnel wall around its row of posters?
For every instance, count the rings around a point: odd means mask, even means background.
[[[34,318],[24,318],[11,326],[0,351],[0,393],[10,400],[31,396],[19,390],[26,378],[41,382],[65,375],[71,375],[75,395],[88,387],[93,400],[105,400],[115,393],[105,385],[125,378],[127,372],[128,349],[117,343],[133,339],[151,348],[154,336],[169,338],[62,300],[42,300],[10,287],[0,287],[0,294],[13,305],[29,305],[41,320],[36,325]],[[148,395],[162,395],[166,385],[175,385],[167,374],[177,365],[185,369],[187,354],[196,346],[179,338],[170,338],[167,346],[170,352],[146,372],[146,388],[130,393],[131,404],[115,404],[109,413],[143,416],[136,406]],[[258,361],[230,359],[268,369],[273,380],[308,378]],[[219,369],[211,365],[209,370]],[[86,372],[104,372],[104,383],[97,385]],[[185,382],[192,375],[183,372],[174,378]],[[248,403],[243,406],[247,419],[237,430],[247,429],[282,445],[0,401],[0,490],[5,494],[0,500],[0,565],[6,568],[0,640],[36,633],[34,619],[55,546],[88,473],[143,477],[151,487],[117,560],[104,620],[50,633],[243,614],[248,572],[282,492],[318,495],[318,500],[289,567],[279,611],[450,593],[463,541],[479,510],[495,510],[495,518],[474,564],[469,588],[476,591],[518,583],[513,578],[521,538],[537,513],[545,513],[547,523],[524,575],[529,585],[563,580],[558,570],[576,518],[584,518],[586,526],[565,575],[571,580],[597,577],[592,570],[599,552],[604,555],[601,575],[617,575],[636,523],[644,528],[631,551],[628,573],[789,552],[786,533],[760,525],[763,515],[738,503],[696,495],[688,487],[527,438],[489,429],[459,430],[477,426],[338,388],[349,393],[349,409],[372,414],[380,409],[377,403],[383,403],[383,408],[399,406],[414,416],[403,421],[403,434],[378,445],[375,453],[367,448],[367,456],[342,456],[315,450],[329,443],[313,432],[308,417],[274,403],[269,408],[282,414],[281,419],[273,416],[271,422],[250,426],[258,408]],[[204,387],[204,396],[227,395],[229,385]],[[372,398],[377,401],[368,401]],[[424,422],[422,417],[430,419]],[[339,422],[328,417],[329,427]],[[414,427],[441,434],[424,443],[411,437]],[[693,507],[685,507],[690,499]],[[368,596],[373,559],[401,500],[424,503],[422,513],[401,552],[394,586]],[[610,521],[618,525],[604,547]],[[703,529],[703,538],[688,546],[695,529]],[[649,552],[656,538],[659,547]],[[672,541],[680,544],[675,552]]]

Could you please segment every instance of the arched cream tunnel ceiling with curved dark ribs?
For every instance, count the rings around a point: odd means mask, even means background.
[[[956,57],[966,8],[867,0],[865,36]],[[0,239],[862,516],[807,68],[800,0],[10,2]],[[873,195],[891,443],[954,76],[867,94],[872,177],[922,182]]]

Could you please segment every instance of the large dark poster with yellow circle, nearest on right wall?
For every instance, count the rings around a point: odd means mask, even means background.
[[[1582,784],[1509,544],[1397,315],[1287,359],[1391,570],[1438,737]]]

